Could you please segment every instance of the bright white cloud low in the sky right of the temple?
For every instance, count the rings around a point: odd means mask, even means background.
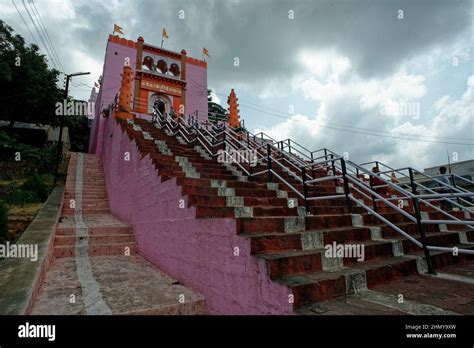
[[[424,168],[443,161],[445,147],[453,148],[437,142],[463,142],[455,138],[472,138],[474,134],[474,76],[469,77],[467,90],[461,97],[439,98],[433,108],[436,114],[424,117],[420,123],[413,115],[408,115],[408,119],[403,114],[382,115],[380,106],[400,101],[419,103],[428,93],[422,74],[408,73],[402,67],[391,76],[364,80],[351,69],[347,57],[333,53],[313,54],[312,59],[302,57],[302,64],[314,75],[301,82],[300,90],[305,98],[317,103],[317,112],[313,116],[295,115],[262,129],[276,139],[292,138],[310,149],[327,147],[338,153],[347,151],[356,161],[377,159],[398,167]],[[328,57],[344,63],[331,64]],[[379,136],[360,134],[374,133],[371,130],[379,131],[376,133]],[[397,139],[410,134],[415,138],[423,135],[421,140],[432,142]],[[461,146],[459,151],[469,157],[472,148]]]

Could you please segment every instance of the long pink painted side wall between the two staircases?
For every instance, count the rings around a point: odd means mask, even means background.
[[[250,241],[236,234],[234,219],[196,219],[193,207],[180,209],[187,197],[176,180],[161,183],[150,158],[141,158],[113,119],[105,121],[104,135],[111,211],[133,225],[142,256],[203,294],[210,313],[293,313],[291,290],[269,279],[265,262],[250,255]]]

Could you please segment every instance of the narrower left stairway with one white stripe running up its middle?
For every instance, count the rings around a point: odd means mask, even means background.
[[[138,255],[132,226],[110,213],[98,156],[71,154],[53,238],[51,265],[29,314],[207,312],[202,295]]]

